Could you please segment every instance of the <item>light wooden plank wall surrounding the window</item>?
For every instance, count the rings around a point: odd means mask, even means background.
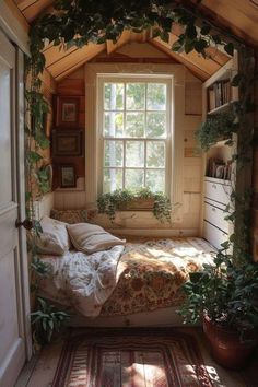
[[[198,235],[200,224],[200,204],[201,204],[201,173],[202,160],[200,152],[197,152],[197,143],[195,140],[195,131],[201,121],[201,81],[186,70],[185,86],[185,119],[184,119],[184,202],[183,202],[183,220],[180,223],[174,223],[172,227],[161,225],[160,222],[153,221],[152,228],[162,228],[162,233],[169,235],[173,228],[173,235]],[[59,95],[82,95],[84,97],[84,67],[70,74],[68,78],[57,84],[57,94]],[[81,110],[81,122],[85,118],[83,109]],[[86,130],[86,129],[85,129]],[[84,188],[85,184],[85,188]],[[74,190],[55,190],[55,208],[56,209],[83,209],[87,208],[85,201],[85,192],[87,181],[83,176],[78,180],[79,187]],[[136,219],[137,216],[137,219]],[[140,214],[124,213],[122,225],[131,228],[132,224],[139,228],[148,228],[150,224],[149,213]],[[125,219],[128,219],[125,221]],[[102,216],[96,219],[104,226],[110,226]],[[137,222],[136,222],[137,221]],[[119,222],[118,222],[119,223]],[[115,225],[116,227],[116,225]],[[166,231],[164,230],[166,228]]]

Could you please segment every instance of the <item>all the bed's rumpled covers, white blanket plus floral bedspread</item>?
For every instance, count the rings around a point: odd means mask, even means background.
[[[130,315],[178,306],[189,273],[213,262],[213,248],[201,238],[127,243],[110,250],[44,257],[51,277],[40,295],[72,306],[83,316]]]

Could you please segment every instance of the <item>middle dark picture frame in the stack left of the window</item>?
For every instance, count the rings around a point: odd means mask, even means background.
[[[82,156],[83,134],[81,130],[52,130],[52,156]]]

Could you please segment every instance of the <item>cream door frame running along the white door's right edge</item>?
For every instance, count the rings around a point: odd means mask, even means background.
[[[1,2],[0,9],[5,4]],[[19,219],[24,220],[25,214],[25,149],[24,149],[24,116],[25,116],[25,97],[24,97],[24,51],[27,54],[27,44],[24,45],[24,36],[27,36],[26,31],[21,31],[19,26],[17,31],[12,31],[12,26],[15,26],[15,22],[5,28],[4,16],[9,14],[0,13],[0,33],[5,35],[5,38],[14,46],[15,49],[15,106],[14,106],[14,130],[15,130],[15,159],[16,159],[16,191],[19,203]],[[15,21],[15,16],[13,16]],[[8,22],[8,20],[5,20]],[[16,21],[16,24],[20,24]],[[15,36],[15,38],[14,38]],[[28,40],[28,36],[27,36]],[[24,176],[23,179],[20,176]],[[31,330],[31,300],[30,300],[30,271],[28,271],[28,256],[26,247],[26,232],[23,227],[19,231],[19,245],[20,245],[20,267],[21,267],[21,288],[22,288],[22,319],[24,328],[24,340],[26,360],[32,357],[32,330]]]

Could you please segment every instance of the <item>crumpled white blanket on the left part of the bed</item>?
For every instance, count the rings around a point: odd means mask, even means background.
[[[69,305],[84,316],[95,317],[114,291],[119,275],[117,265],[124,246],[91,255],[68,251],[62,257],[47,256],[51,278],[40,280],[39,295]]]

